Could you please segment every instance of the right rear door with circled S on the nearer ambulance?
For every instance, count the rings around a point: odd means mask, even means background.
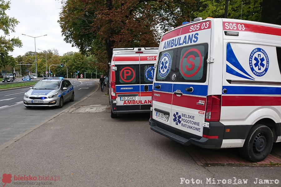
[[[186,41],[187,40],[187,41]],[[205,122],[208,94],[207,59],[211,42],[211,21],[182,27],[173,80],[171,128],[200,138]],[[210,54],[210,52],[209,52]]]

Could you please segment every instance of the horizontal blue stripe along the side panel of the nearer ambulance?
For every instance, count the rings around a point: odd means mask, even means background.
[[[226,89],[225,94],[262,94],[262,95],[280,95],[280,87],[261,87],[261,86],[223,86]]]

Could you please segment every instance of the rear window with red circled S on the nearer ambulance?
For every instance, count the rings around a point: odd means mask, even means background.
[[[204,83],[207,77],[208,44],[185,46],[178,49],[175,68],[176,82]]]

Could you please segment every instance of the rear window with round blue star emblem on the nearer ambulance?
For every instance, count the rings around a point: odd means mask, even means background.
[[[166,50],[159,53],[158,64],[155,69],[157,81],[173,81],[172,74],[175,72],[177,49]]]

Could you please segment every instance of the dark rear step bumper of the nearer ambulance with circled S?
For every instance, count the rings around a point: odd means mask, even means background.
[[[203,148],[220,148],[222,145],[223,138],[218,139],[208,139],[204,137],[193,137],[189,136],[187,134],[184,134],[182,132],[176,131],[174,129],[171,129],[169,127],[166,127],[162,124],[156,123],[153,121],[152,118],[149,119],[149,125],[150,129],[154,132],[157,132],[167,138],[170,138],[171,140],[174,140],[184,146],[188,145],[195,145]],[[221,126],[219,129],[222,128],[222,132],[224,130],[224,127]],[[216,128],[218,130],[218,128]],[[221,136],[219,136],[221,137]]]

